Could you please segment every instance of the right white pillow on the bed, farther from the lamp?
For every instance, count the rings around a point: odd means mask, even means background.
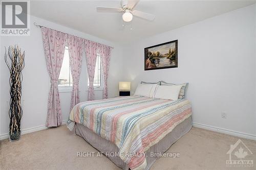
[[[182,85],[159,86],[156,89],[155,98],[175,101],[179,98]]]

